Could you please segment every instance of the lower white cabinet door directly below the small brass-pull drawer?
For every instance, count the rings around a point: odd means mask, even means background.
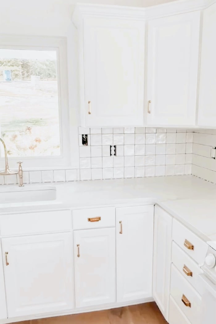
[[[74,231],[76,307],[116,301],[115,228]]]

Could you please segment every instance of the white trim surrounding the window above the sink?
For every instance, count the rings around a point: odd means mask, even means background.
[[[0,48],[27,49],[27,50],[55,50],[57,54],[58,99],[59,99],[59,124],[61,156],[44,157],[10,157],[9,168],[17,168],[17,160],[23,161],[24,170],[47,170],[76,168],[76,158],[71,157],[70,113],[68,102],[68,62],[67,39],[64,37],[40,36],[0,36]],[[1,145],[1,143],[0,143]],[[4,168],[4,158],[0,158],[1,169]]]

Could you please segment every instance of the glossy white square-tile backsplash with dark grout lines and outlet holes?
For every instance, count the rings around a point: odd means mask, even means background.
[[[88,135],[88,146],[82,145],[82,134]],[[116,156],[110,156],[110,145],[116,145]],[[24,170],[23,181],[48,183],[193,173],[216,182],[216,161],[210,158],[213,146],[215,130],[79,127],[78,169]],[[16,177],[0,180],[0,184],[17,182]]]

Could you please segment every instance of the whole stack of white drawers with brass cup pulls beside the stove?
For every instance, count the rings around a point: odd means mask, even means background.
[[[198,275],[207,244],[173,220],[169,323],[199,324],[201,288]],[[178,314],[178,316],[176,316]]]

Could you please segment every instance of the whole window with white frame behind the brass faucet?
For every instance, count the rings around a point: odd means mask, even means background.
[[[45,39],[37,38],[41,46],[33,39],[34,46],[29,46],[28,41],[28,46],[23,45],[25,38],[15,45],[0,44],[0,137],[10,165],[22,159],[28,167],[66,166],[66,41],[46,38],[46,46]],[[4,157],[1,143],[0,157]]]

